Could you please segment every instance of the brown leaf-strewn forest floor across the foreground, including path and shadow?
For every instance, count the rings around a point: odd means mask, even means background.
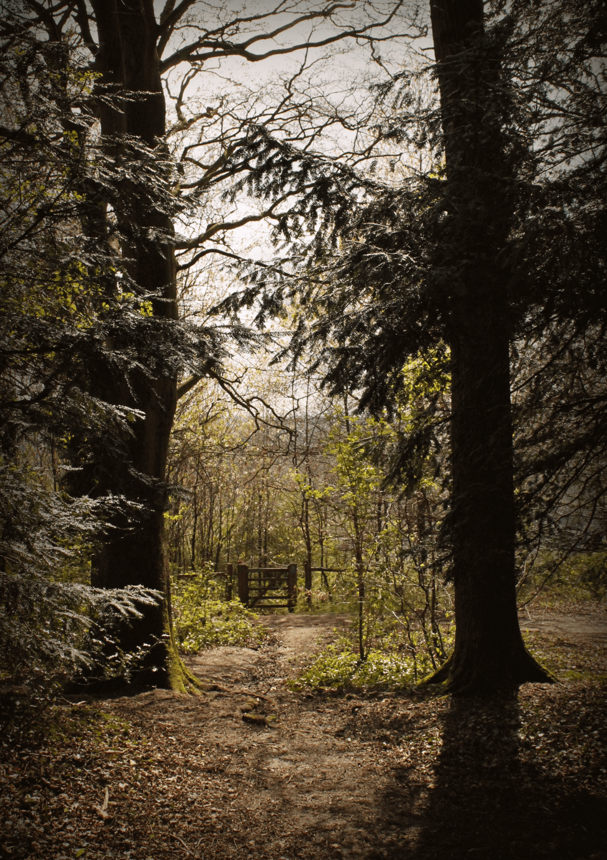
[[[0,856],[607,860],[604,606],[521,617],[560,683],[510,703],[294,693],[347,618],[263,621],[259,650],[187,660],[200,697],[64,700],[41,745],[5,736]]]

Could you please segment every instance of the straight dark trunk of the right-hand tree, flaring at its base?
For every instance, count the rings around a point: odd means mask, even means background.
[[[524,647],[515,593],[510,327],[498,261],[512,217],[512,163],[482,0],[431,0],[431,15],[448,201],[439,265],[451,292],[456,642],[428,680],[491,693],[549,680]]]

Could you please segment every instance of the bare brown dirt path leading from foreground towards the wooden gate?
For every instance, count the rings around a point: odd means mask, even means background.
[[[206,750],[223,753],[219,770],[227,779],[230,808],[227,816],[214,809],[213,832],[217,837],[231,832],[236,857],[278,860],[293,851],[354,857],[395,828],[389,824],[388,832],[380,833],[384,822],[377,820],[371,790],[373,785],[381,794],[384,787],[381,742],[361,744],[343,732],[353,714],[368,705],[352,697],[300,697],[285,686],[297,672],[296,658],[322,647],[335,627],[347,623],[346,617],[327,615],[264,618],[277,644],[259,651],[213,648],[187,660],[211,686],[204,700],[156,691],[138,697],[139,703],[113,704],[126,714],[143,707],[147,720],[178,734],[181,744],[204,739]],[[275,722],[244,722],[241,709],[247,705],[260,716],[275,716]],[[230,826],[235,820],[238,826]]]

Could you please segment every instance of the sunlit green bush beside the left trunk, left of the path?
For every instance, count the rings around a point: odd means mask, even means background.
[[[240,600],[221,599],[223,587],[207,572],[175,584],[175,636],[185,654],[218,645],[258,648],[269,636],[267,628],[257,623],[257,615]]]

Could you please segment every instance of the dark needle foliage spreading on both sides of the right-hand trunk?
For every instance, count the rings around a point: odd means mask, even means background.
[[[469,177],[481,180],[475,187],[484,188],[497,225],[478,253],[492,256],[505,285],[521,547],[537,549],[549,538],[570,550],[596,548],[607,402],[600,371],[607,310],[604,3],[496,2],[485,17],[475,50],[492,94],[483,127],[494,169]],[[456,82],[458,62],[451,61]],[[463,69],[468,58],[461,62]],[[453,118],[441,114],[435,76],[426,64],[376,88],[389,114],[375,129],[377,155],[417,145],[430,169],[411,164],[406,174],[382,175],[279,142],[265,155],[271,146],[262,146],[260,132],[258,151],[273,180],[261,167],[257,181],[247,180],[254,196],[295,187],[301,194],[275,230],[280,253],[273,265],[246,268],[247,287],[225,307],[258,302],[262,325],[290,305],[291,354],[313,354],[328,390],[356,391],[359,408],[374,415],[389,415],[408,396],[402,368],[412,359],[438,368],[448,385],[457,261],[464,245],[474,245],[458,232],[462,224],[472,229],[478,202],[466,196],[465,169],[463,189],[445,181],[444,132]],[[422,77],[435,88],[423,104],[415,89]],[[462,77],[453,84],[461,87],[463,134],[475,128],[468,83]],[[469,218],[462,206],[470,207]],[[434,444],[437,427],[431,397],[395,451],[391,476],[405,488],[414,488],[414,462]]]

